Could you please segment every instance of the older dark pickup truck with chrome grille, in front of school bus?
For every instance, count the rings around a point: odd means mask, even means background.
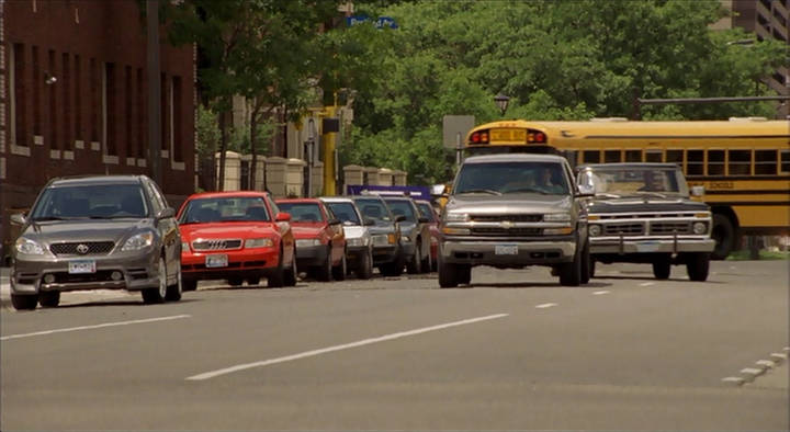
[[[672,264],[685,264],[691,281],[708,278],[715,243],[710,208],[690,200],[679,167],[595,163],[577,170],[579,187],[595,190],[587,208],[591,275],[598,261],[650,263],[658,280],[669,277]]]

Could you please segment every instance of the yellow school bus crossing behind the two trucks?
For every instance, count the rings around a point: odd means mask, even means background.
[[[790,234],[790,122],[501,121],[466,135],[465,155],[556,151],[571,164],[673,162],[713,212],[716,249],[725,258],[743,235]]]

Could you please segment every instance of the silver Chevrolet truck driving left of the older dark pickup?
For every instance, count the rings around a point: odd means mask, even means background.
[[[442,211],[439,285],[469,284],[475,265],[546,265],[562,285],[587,283],[589,245],[583,196],[562,157],[467,158]]]

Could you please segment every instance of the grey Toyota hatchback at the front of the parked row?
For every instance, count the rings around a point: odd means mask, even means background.
[[[147,304],[181,298],[174,211],[145,175],[54,179],[22,225],[11,264],[16,309],[55,307],[60,292],[127,289]]]

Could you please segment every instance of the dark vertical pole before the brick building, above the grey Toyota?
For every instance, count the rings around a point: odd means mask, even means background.
[[[159,64],[159,2],[146,0],[148,39],[146,60],[148,71],[148,163],[151,179],[161,183],[161,67]]]

